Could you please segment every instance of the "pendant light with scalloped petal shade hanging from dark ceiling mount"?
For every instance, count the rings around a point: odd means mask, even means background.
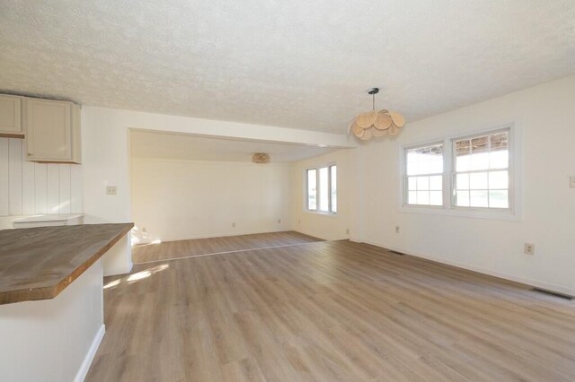
[[[367,94],[371,94],[373,109],[353,118],[353,122],[349,125],[348,135],[353,132],[353,135],[362,141],[369,141],[374,136],[399,134],[400,128],[405,125],[405,118],[395,111],[376,111],[376,94],[378,92],[378,88],[367,91]]]

